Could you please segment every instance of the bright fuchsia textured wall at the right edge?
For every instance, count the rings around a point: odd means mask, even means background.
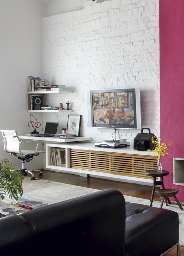
[[[173,157],[184,158],[184,1],[160,0],[160,138],[174,144],[161,158],[165,188],[178,189],[184,202],[184,186],[173,184]],[[171,198],[173,200],[174,198]]]

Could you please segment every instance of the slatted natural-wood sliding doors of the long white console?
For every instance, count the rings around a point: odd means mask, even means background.
[[[156,169],[156,161],[150,156],[70,149],[70,167],[146,178],[146,171]]]

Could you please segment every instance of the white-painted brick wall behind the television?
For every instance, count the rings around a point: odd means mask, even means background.
[[[85,0],[83,10],[45,17],[42,26],[43,77],[74,91],[50,95],[48,105],[69,100],[82,115],[81,136],[97,142],[114,130],[88,128],[86,90],[140,87],[142,127],[159,136],[159,0]],[[61,131],[67,114],[58,121]],[[116,138],[133,144],[138,132],[121,129]]]

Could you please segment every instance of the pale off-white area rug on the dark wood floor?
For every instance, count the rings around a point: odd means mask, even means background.
[[[85,194],[90,194],[96,191],[98,190],[41,179],[32,181],[30,177],[25,177],[23,181],[23,195],[53,203],[68,200]],[[124,195],[124,197],[127,202],[140,203],[145,205],[150,204],[150,201],[146,199],[128,195]],[[153,207],[159,206],[160,202],[153,201]],[[170,204],[168,206],[163,205],[163,208],[176,211],[179,214],[179,242],[181,246],[184,246],[184,210],[180,210],[179,206],[176,204]]]

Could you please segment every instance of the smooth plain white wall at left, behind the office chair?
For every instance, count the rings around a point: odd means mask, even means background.
[[[17,130],[19,134],[30,133],[32,128],[28,127],[30,115],[26,103],[27,76],[42,75],[41,22],[46,9],[36,1],[1,0],[0,11],[0,129]],[[42,123],[42,115],[35,116]],[[21,161],[3,150],[2,137],[0,144],[0,159],[7,157],[20,167]],[[41,168],[42,156],[26,166]]]

